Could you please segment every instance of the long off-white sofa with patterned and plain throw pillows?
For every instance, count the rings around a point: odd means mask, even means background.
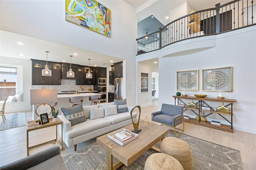
[[[71,126],[70,121],[66,119],[65,115],[59,115],[58,117],[63,122],[63,141],[70,147],[74,145],[74,150],[76,151],[76,145],[82,143],[89,139],[104,135],[108,132],[114,131],[121,127],[127,126],[132,123],[130,111],[132,107],[128,107],[128,112],[118,113],[116,115],[105,116],[104,118],[98,118],[91,120],[90,108],[92,107],[103,107],[105,105],[114,105],[114,102],[106,104],[98,104],[92,106],[83,106],[84,113],[86,116],[86,121]],[[89,115],[88,115],[89,114]],[[137,113],[133,112],[132,117],[134,121],[137,121]],[[61,135],[61,129],[58,130],[59,135]]]

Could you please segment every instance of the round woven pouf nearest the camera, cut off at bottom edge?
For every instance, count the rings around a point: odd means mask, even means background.
[[[170,155],[154,153],[148,156],[144,170],[183,170],[183,167],[177,159]]]

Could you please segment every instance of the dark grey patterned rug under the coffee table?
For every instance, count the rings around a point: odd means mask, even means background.
[[[166,137],[173,137],[173,132]],[[242,160],[239,150],[230,149],[215,143],[210,143],[189,135],[178,137],[186,141],[193,154],[193,170],[242,170]],[[159,147],[160,143],[156,146]],[[153,150],[148,150],[130,166],[122,166],[120,170],[144,170],[146,159]],[[107,170],[107,152],[97,143],[63,156],[69,170]],[[113,163],[118,160],[113,157]]]

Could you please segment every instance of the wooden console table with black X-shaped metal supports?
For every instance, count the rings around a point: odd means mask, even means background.
[[[180,104],[182,103],[182,104],[185,105],[184,111],[191,110],[197,116],[199,116],[199,120],[198,121],[196,121],[193,118],[190,118],[190,119],[184,119],[185,122],[233,133],[233,103],[236,102],[235,99],[218,99],[218,98],[207,98],[207,97],[206,98],[197,98],[197,97],[194,97],[194,96],[187,96],[187,97],[172,96],[172,97],[175,100],[175,105],[179,104],[179,103]],[[195,102],[195,104],[198,104],[198,108],[196,109],[196,108],[188,107],[186,102],[184,102],[182,99],[183,100],[187,99],[187,100],[196,100],[196,101],[198,101],[198,102]],[[177,100],[177,102],[176,102],[176,100]],[[225,105],[225,107],[231,106],[230,113],[222,113],[220,111],[216,111],[209,104],[207,104],[206,102],[223,102],[223,103],[228,103],[227,105]],[[202,109],[202,104],[205,104],[206,106],[210,107],[211,110],[204,110],[204,109]],[[225,119],[228,123],[230,123],[230,125],[221,124],[220,126],[218,126],[218,125],[212,125],[210,121],[200,122],[200,115],[201,115],[200,112],[201,111],[209,113],[209,114],[205,115],[204,117],[207,117],[207,116],[209,116],[209,115],[211,115],[213,113],[216,113],[216,114],[220,115],[223,119]],[[222,115],[230,115],[231,116],[231,122],[228,119],[226,119],[225,117],[223,117]]]

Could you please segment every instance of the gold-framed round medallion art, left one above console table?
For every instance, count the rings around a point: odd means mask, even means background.
[[[176,72],[176,90],[198,91],[198,70]]]

